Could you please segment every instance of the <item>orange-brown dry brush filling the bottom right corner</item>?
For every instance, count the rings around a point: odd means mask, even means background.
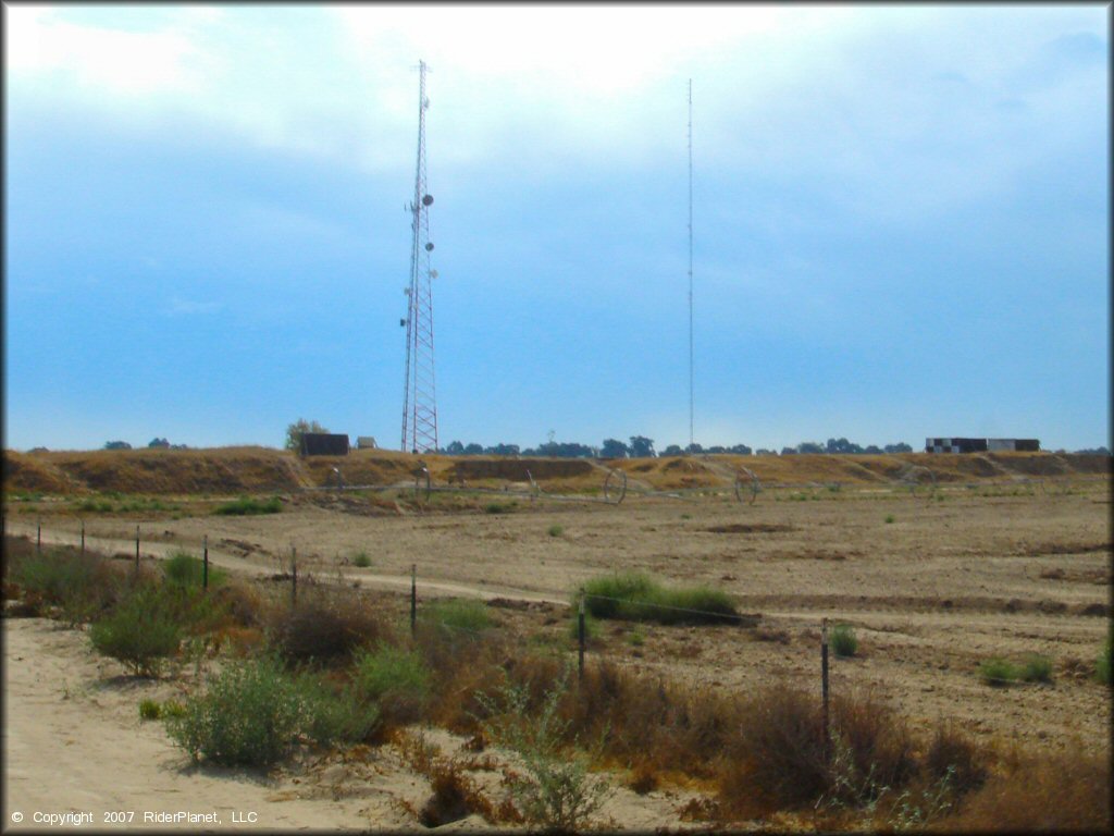
[[[1111,766],[1100,756],[1014,759],[941,820],[951,833],[1110,833]]]

